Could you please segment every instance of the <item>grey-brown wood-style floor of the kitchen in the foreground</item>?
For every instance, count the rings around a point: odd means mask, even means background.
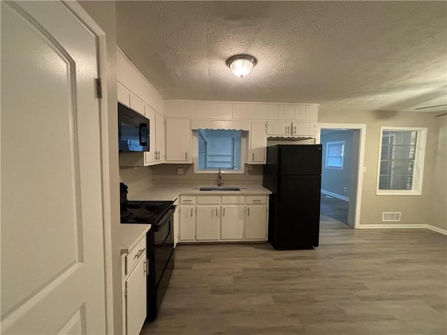
[[[141,334],[447,334],[446,236],[321,230],[314,250],[179,245]]]

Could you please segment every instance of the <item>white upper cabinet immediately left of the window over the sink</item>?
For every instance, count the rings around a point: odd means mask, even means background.
[[[166,162],[192,163],[190,140],[191,120],[166,119]]]

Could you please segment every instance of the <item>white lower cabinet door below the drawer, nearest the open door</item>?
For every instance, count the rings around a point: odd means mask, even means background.
[[[126,334],[140,334],[146,319],[146,254],[126,279]]]

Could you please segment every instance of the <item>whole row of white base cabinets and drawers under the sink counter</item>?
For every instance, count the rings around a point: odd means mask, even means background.
[[[267,241],[268,195],[182,195],[179,242]]]

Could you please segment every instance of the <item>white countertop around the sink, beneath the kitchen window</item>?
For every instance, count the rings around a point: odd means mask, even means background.
[[[222,186],[226,187],[238,187],[240,191],[200,191],[199,188],[207,187],[207,188],[217,188],[217,186],[210,185],[152,185],[144,190],[129,194],[129,200],[146,200],[146,201],[174,201],[179,194],[188,194],[188,195],[253,195],[253,194],[271,194],[272,192],[268,191],[267,188],[261,185],[226,185]]]

